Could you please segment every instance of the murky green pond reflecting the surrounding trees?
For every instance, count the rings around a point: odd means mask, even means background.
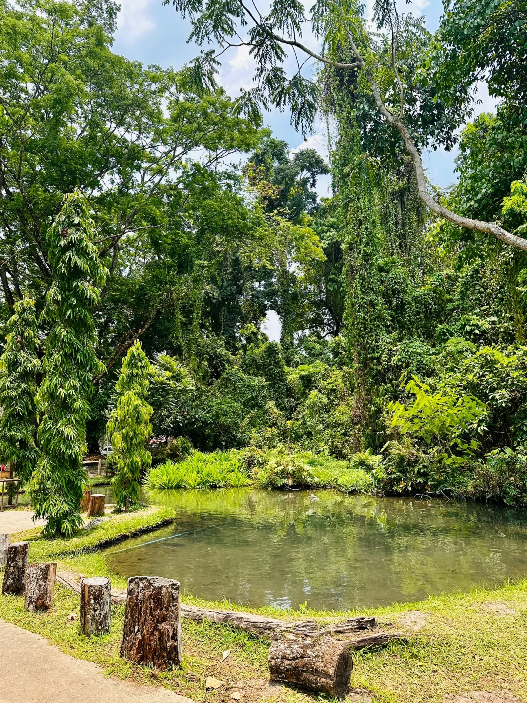
[[[108,554],[117,574],[177,579],[242,605],[343,610],[527,573],[525,512],[334,491],[166,491],[168,528]]]

